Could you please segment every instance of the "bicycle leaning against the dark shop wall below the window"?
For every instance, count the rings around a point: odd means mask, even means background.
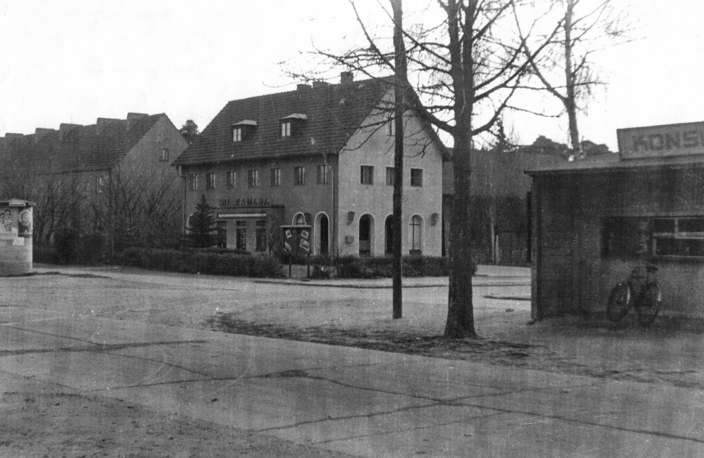
[[[660,312],[662,289],[655,275],[658,267],[648,264],[633,269],[627,281],[622,281],[611,290],[606,305],[606,316],[618,322],[634,307],[638,322],[649,326]]]

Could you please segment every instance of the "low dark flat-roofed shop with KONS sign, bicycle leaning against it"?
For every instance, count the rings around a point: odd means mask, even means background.
[[[604,312],[615,284],[653,264],[662,313],[704,318],[704,122],[618,137],[617,160],[527,172],[532,314]]]

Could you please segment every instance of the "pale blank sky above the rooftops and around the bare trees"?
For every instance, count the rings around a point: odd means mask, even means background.
[[[375,0],[359,3],[365,19],[379,20]],[[634,39],[595,56],[609,84],[580,115],[582,137],[616,151],[617,128],[704,121],[704,4],[615,6]],[[128,112],[203,129],[227,101],[294,89],[282,61],[307,70],[313,46],[361,39],[346,0],[0,0],[0,136]],[[517,115],[508,124],[522,144],[568,140],[565,118]]]

